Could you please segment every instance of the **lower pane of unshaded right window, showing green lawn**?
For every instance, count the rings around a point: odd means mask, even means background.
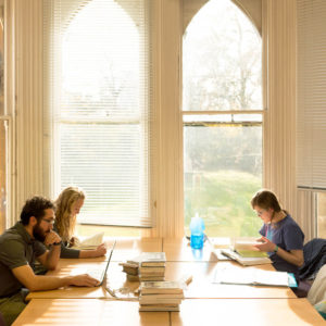
[[[214,237],[258,236],[250,206],[262,187],[262,126],[185,126],[185,225],[198,212]]]

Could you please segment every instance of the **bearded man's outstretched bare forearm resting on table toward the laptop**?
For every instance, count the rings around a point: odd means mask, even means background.
[[[29,265],[13,268],[12,273],[30,291],[53,290],[66,286],[95,287],[100,284],[87,274],[65,277],[35,275]]]

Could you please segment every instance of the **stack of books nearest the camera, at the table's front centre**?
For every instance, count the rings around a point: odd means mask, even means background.
[[[139,311],[179,311],[184,289],[179,281],[142,281]]]

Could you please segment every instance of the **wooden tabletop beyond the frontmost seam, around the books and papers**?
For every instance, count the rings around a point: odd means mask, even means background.
[[[145,238],[140,239],[123,239],[117,241],[116,259],[121,254],[120,261],[125,261],[124,256],[131,256],[141,252],[141,248],[147,248],[147,250],[152,249],[153,251],[160,247],[160,239]],[[181,255],[185,253],[187,255],[188,246],[184,240],[168,240],[163,242],[163,247],[173,246],[179,248]],[[166,244],[167,243],[167,244]],[[162,243],[161,243],[162,246]],[[167,247],[168,247],[167,246]],[[179,247],[179,246],[183,246]],[[166,248],[167,248],[166,247]],[[129,249],[128,249],[129,248]],[[134,251],[133,251],[134,249]],[[178,251],[178,249],[177,249]],[[170,251],[171,254],[173,251]],[[203,256],[208,256],[210,249],[203,249]],[[185,256],[185,255],[184,255]],[[170,255],[171,258],[171,255]],[[103,266],[105,261],[92,261],[92,260],[60,260],[58,268],[51,271],[48,275],[52,276],[67,276],[86,273],[87,268],[93,268],[95,266]],[[165,279],[166,280],[179,280],[185,275],[192,276],[192,283],[185,289],[186,298],[296,298],[296,294],[291,289],[286,287],[268,287],[268,286],[247,286],[247,285],[224,285],[213,283],[214,274],[216,268],[222,266],[234,266],[235,268],[259,268],[274,271],[271,264],[258,265],[254,267],[243,267],[233,261],[215,261],[209,262],[205,260],[193,260],[193,261],[167,261],[165,267]],[[124,298],[134,299],[134,290],[138,288],[138,281],[126,280],[126,274],[122,272],[122,267],[116,261],[110,263],[108,269],[108,277],[103,286],[96,288],[84,288],[84,287],[66,287],[50,291],[37,291],[30,292],[27,296],[27,300],[30,299],[112,299],[112,296],[105,290],[105,285],[117,293],[123,293]]]

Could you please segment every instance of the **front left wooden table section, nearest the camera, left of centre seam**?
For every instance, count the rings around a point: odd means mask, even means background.
[[[168,312],[139,312],[138,302],[98,299],[34,299],[13,323],[29,325],[167,326]]]

